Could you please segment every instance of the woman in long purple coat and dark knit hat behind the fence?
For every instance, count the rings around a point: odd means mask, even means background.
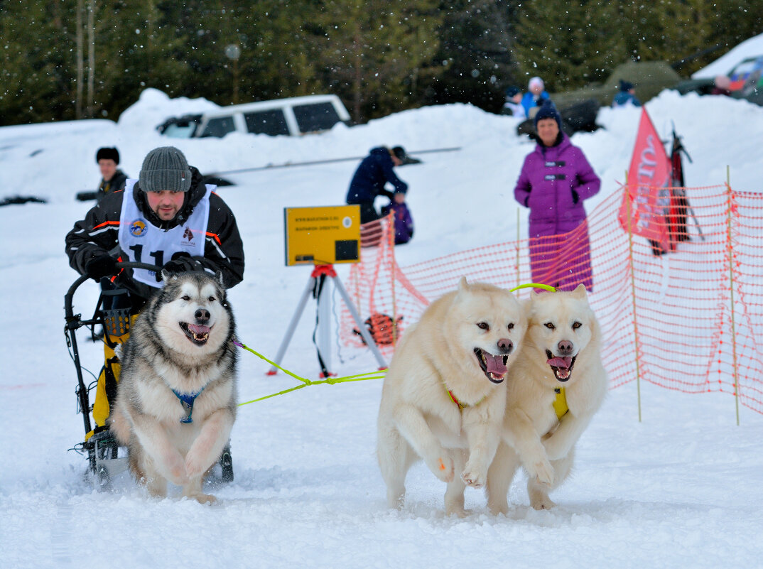
[[[571,291],[593,288],[591,248],[583,201],[601,181],[562,132],[562,117],[546,103],[535,115],[538,146],[528,154],[514,198],[530,207],[530,270],[533,282]]]

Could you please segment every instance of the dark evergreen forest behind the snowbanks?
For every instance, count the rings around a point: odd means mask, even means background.
[[[0,126],[117,120],[140,92],[236,104],[334,93],[362,123],[508,85],[681,76],[763,31],[763,0],[0,0]]]

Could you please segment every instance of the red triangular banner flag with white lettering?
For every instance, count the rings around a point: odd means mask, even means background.
[[[670,173],[668,154],[644,108],[618,220],[624,230],[630,227],[634,235],[659,243],[665,251],[669,250],[665,216],[670,206]]]

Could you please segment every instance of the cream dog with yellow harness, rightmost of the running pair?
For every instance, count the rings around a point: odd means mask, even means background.
[[[504,442],[488,472],[493,513],[507,513],[507,492],[520,465],[528,474],[530,505],[555,506],[549,491],[568,476],[575,443],[607,392],[601,332],[585,287],[532,293],[525,308],[527,333],[507,377]],[[555,389],[562,387],[568,412],[559,419]]]

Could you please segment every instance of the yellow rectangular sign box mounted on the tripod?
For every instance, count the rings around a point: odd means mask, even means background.
[[[284,207],[286,266],[360,260],[360,206]]]

